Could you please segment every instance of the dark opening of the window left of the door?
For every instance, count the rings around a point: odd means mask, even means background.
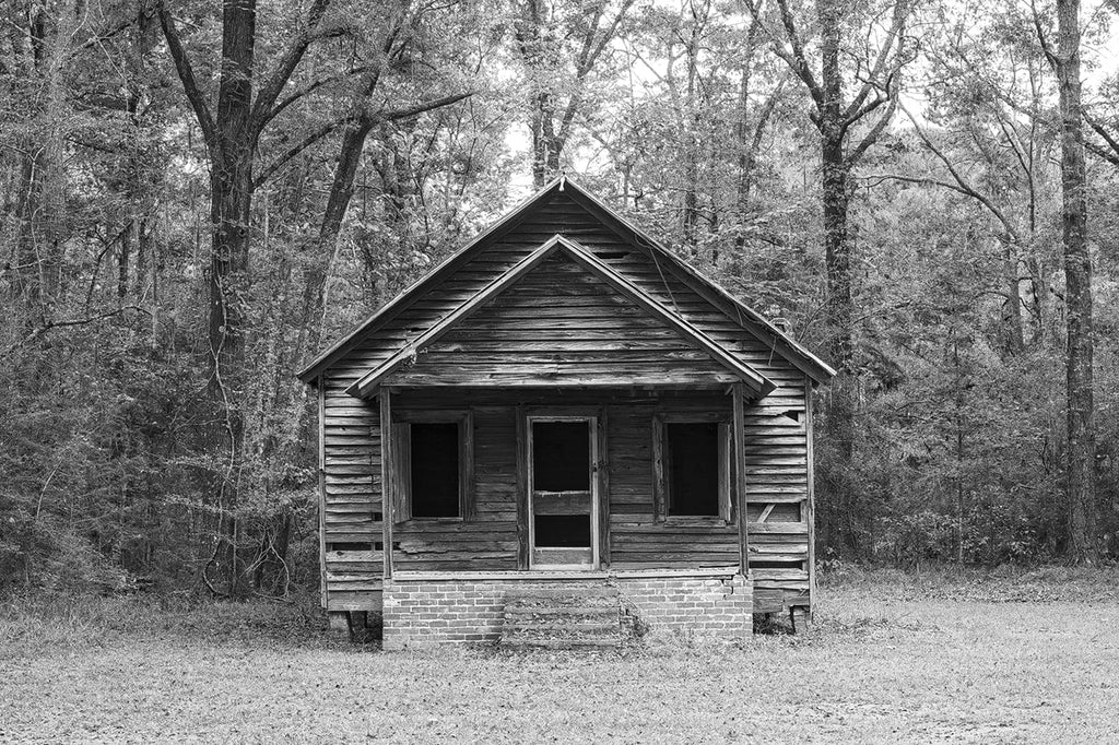
[[[459,517],[459,425],[412,425],[412,517]]]

